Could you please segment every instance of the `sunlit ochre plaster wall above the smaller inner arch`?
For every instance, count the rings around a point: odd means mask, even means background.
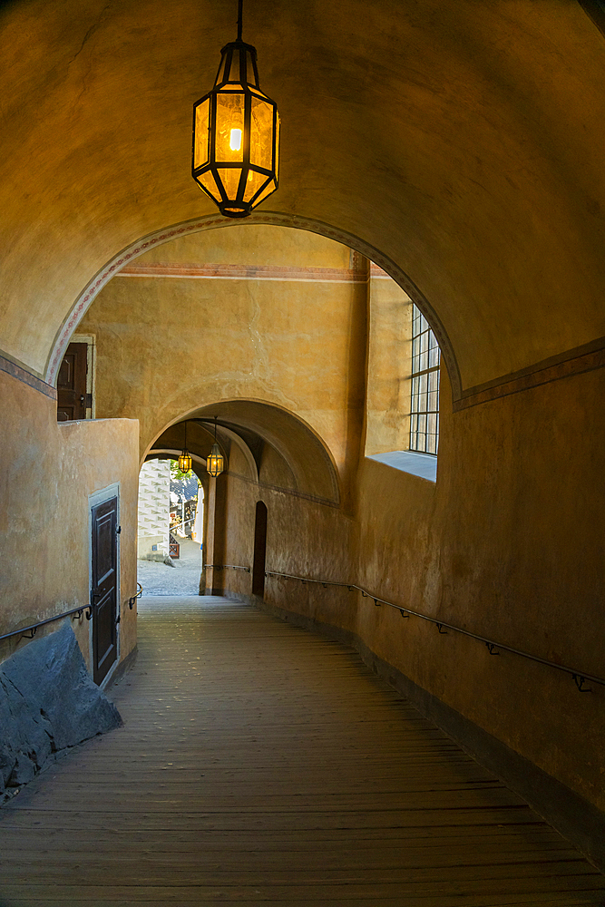
[[[311,424],[348,485],[363,424],[367,295],[365,273],[346,276],[350,250],[304,230],[248,225],[175,239],[137,260],[158,263],[155,277],[114,278],[79,327],[96,336],[97,416],[138,418],[142,457],[184,414],[258,399]],[[242,267],[239,278],[165,276],[183,263]],[[257,265],[294,276],[259,279]]]

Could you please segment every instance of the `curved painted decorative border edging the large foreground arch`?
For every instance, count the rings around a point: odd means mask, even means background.
[[[395,283],[407,293],[408,297],[415,302],[416,306],[431,323],[450,376],[453,399],[457,400],[460,398],[462,394],[460,370],[454,356],[454,348],[450,343],[450,339],[445,332],[444,326],[428,300],[415,286],[415,283],[407,277],[401,268],[395,265],[394,261],[383,255],[378,249],[370,246],[369,243],[364,242],[363,239],[358,239],[352,233],[347,233],[345,230],[331,227],[320,220],[279,214],[275,211],[253,211],[249,218],[246,218],[241,225],[247,226],[249,224],[306,229],[311,233],[317,233],[319,236],[324,236],[327,239],[334,239],[336,242],[340,242],[350,249],[360,252],[362,255],[366,256],[366,258],[369,258],[370,261],[378,265],[379,268],[382,268],[382,270],[385,271],[389,277],[393,278]],[[53,349],[46,363],[44,375],[48,384],[54,385],[70,337],[83,318],[87,308],[93,302],[93,299],[99,294],[105,284],[115,277],[116,274],[119,274],[122,268],[132,262],[133,258],[138,258],[149,251],[149,249],[160,246],[165,242],[170,242],[171,239],[176,239],[180,236],[198,233],[201,230],[206,229],[228,228],[233,226],[235,226],[235,224],[232,219],[210,215],[205,218],[185,221],[181,224],[175,224],[172,227],[158,230],[155,233],[150,233],[148,236],[143,237],[143,239],[132,243],[132,245],[128,246],[126,249],[122,249],[122,251],[112,258],[93,277],[86,287],[83,288],[82,293],[75,300],[71,312],[63,321],[62,327],[55,336]]]

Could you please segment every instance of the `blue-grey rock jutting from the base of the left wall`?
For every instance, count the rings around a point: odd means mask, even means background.
[[[0,665],[0,802],[54,755],[122,725],[69,623]]]

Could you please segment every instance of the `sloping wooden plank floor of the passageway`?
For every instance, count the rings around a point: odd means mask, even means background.
[[[0,905],[503,907],[605,877],[350,649],[142,600],[124,727],[0,810]]]

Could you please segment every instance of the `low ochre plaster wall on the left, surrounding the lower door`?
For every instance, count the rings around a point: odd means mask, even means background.
[[[57,424],[54,400],[2,371],[0,421],[0,634],[89,602],[88,497],[120,483],[124,658],[136,644],[136,610],[127,602],[136,591],[137,423]],[[72,625],[90,667],[91,622]],[[0,658],[24,645],[0,643]]]

